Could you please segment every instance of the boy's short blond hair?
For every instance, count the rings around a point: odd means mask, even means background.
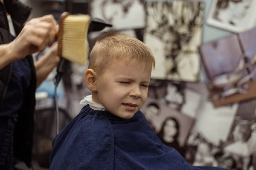
[[[121,32],[109,32],[96,41],[90,53],[89,68],[102,74],[113,59],[125,63],[135,61],[142,68],[155,67],[150,49],[140,40]]]

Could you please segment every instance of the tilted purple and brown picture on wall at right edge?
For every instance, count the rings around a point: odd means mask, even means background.
[[[256,28],[199,47],[214,105],[256,98]]]

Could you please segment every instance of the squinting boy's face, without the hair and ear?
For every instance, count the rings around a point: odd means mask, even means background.
[[[148,96],[151,68],[141,68],[135,62],[112,61],[96,80],[98,102],[112,114],[129,119],[140,110]]]

